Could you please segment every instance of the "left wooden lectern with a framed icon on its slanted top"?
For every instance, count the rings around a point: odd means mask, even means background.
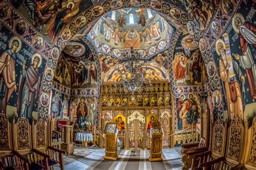
[[[106,160],[117,160],[117,124],[107,123],[104,131]]]

